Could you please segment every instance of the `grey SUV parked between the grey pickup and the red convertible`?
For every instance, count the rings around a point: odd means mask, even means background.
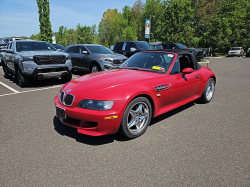
[[[127,57],[97,44],[70,45],[64,52],[70,55],[73,69],[91,73],[117,68],[127,60]]]

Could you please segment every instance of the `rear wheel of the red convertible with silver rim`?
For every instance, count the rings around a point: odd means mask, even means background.
[[[200,102],[201,103],[209,103],[214,96],[214,91],[215,91],[215,81],[213,78],[210,78],[207,81],[207,84],[203,90],[201,97],[200,97]]]

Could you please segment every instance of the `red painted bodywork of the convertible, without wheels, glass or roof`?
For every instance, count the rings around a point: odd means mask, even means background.
[[[177,56],[177,54],[176,54]],[[174,61],[169,69],[173,66]],[[128,103],[138,95],[147,95],[154,103],[154,117],[173,110],[199,98],[209,78],[215,77],[211,69],[202,67],[193,71],[187,68],[184,74],[169,75],[146,71],[117,69],[102,71],[79,77],[64,85],[61,91],[75,96],[72,106],[67,107],[55,97],[55,104],[66,110],[70,118],[81,120],[80,125],[62,121],[63,124],[77,128],[79,133],[101,136],[116,133],[119,129],[123,113]],[[197,76],[199,78],[197,79]],[[157,91],[155,87],[166,86]],[[157,94],[160,94],[160,96]],[[108,111],[89,110],[76,107],[83,99],[115,101]],[[104,117],[117,115],[116,119],[106,120]],[[88,122],[98,123],[96,127],[87,127]]]

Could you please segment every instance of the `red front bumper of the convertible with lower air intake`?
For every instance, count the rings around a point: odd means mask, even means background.
[[[90,136],[102,136],[114,134],[118,131],[125,110],[126,101],[115,101],[108,111],[90,110],[78,107],[67,107],[59,102],[59,94],[55,97],[55,105],[65,109],[67,118],[60,121],[67,126],[77,129],[78,133]],[[117,116],[114,119],[105,117]]]

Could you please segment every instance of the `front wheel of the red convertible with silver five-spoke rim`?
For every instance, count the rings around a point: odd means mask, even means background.
[[[151,117],[150,102],[145,97],[138,97],[128,104],[122,117],[119,133],[129,139],[137,138],[146,132]]]

